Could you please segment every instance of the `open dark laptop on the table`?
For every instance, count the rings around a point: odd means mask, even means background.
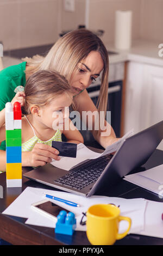
[[[59,190],[90,197],[117,184],[124,175],[144,164],[163,139],[163,121],[127,138],[115,155],[88,160],[69,171],[51,163],[23,176]]]

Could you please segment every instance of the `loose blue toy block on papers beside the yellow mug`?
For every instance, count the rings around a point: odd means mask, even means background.
[[[57,216],[57,223],[55,225],[55,233],[72,235],[76,228],[76,218],[73,212],[60,211]]]

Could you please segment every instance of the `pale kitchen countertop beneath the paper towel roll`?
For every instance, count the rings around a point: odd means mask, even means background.
[[[161,48],[158,48],[159,44],[156,42],[135,40],[129,50],[118,50],[113,44],[106,44],[105,46],[108,51],[118,53],[109,56],[110,64],[132,60],[140,63],[163,66],[163,57],[159,57]]]

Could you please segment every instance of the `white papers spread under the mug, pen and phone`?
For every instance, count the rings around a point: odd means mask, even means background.
[[[80,220],[83,216],[82,212],[86,212],[91,205],[112,203],[116,206],[120,205],[121,216],[131,218],[132,223],[129,233],[163,238],[163,223],[161,220],[163,205],[162,203],[152,202],[143,198],[124,199],[103,196],[91,196],[89,198],[85,198],[67,192],[27,187],[26,190],[24,190],[20,196],[9,205],[3,214],[27,218],[26,224],[55,228],[56,221],[43,216],[31,207],[33,203],[45,199],[45,197],[43,197],[43,193],[80,204],[80,207],[76,208],[56,200],[51,200],[51,202],[55,202],[55,204],[60,205],[62,208],[74,212],[77,220],[76,230],[86,231],[86,225],[80,225]],[[155,209],[154,211],[153,208]],[[119,232],[123,233],[127,227],[128,222],[121,221]]]

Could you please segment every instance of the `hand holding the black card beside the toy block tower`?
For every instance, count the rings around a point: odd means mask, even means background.
[[[22,166],[44,166],[52,160],[60,160],[59,151],[49,145],[36,143],[32,151],[22,152]]]

